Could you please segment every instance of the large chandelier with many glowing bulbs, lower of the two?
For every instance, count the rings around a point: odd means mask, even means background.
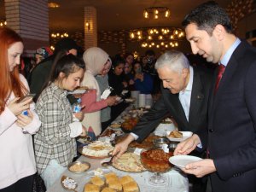
[[[184,32],[176,27],[150,27],[131,30],[131,41],[138,41],[143,48],[174,48],[184,38]]]

